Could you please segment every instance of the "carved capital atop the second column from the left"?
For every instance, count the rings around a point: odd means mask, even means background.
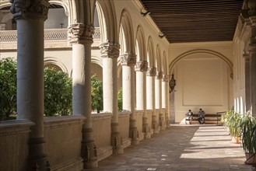
[[[68,40],[71,44],[93,44],[94,27],[83,23],[68,26]]]

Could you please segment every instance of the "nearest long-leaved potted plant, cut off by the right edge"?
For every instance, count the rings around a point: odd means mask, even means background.
[[[246,164],[256,164],[256,119],[250,113],[242,117],[240,130],[242,146],[245,152]]]

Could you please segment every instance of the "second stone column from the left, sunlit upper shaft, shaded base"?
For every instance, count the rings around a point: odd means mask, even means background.
[[[72,44],[72,108],[73,115],[86,117],[82,125],[81,156],[85,168],[98,166],[96,146],[92,139],[91,120],[91,44],[93,44],[93,26],[73,23],[68,28],[68,39]]]

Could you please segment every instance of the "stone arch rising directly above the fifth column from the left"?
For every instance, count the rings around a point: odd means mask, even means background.
[[[137,27],[136,33],[136,54],[137,61],[146,61],[146,45],[145,45],[145,35],[142,26]]]

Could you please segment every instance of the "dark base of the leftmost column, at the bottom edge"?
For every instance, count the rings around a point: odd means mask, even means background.
[[[44,155],[44,142],[44,138],[30,138],[26,170],[50,169],[50,164],[47,162],[47,156]]]

